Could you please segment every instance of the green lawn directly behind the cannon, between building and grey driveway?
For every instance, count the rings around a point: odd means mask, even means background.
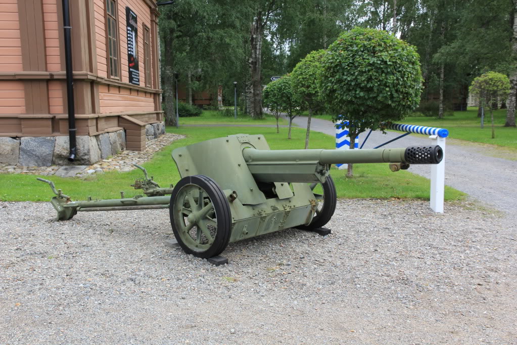
[[[175,141],[172,145],[158,152],[152,160],[143,164],[149,175],[155,176],[155,181],[162,187],[179,180],[179,173],[171,158],[172,149],[193,144],[210,138],[224,137],[229,134],[249,133],[264,134],[271,149],[302,149],[305,142],[305,129],[293,128],[293,139],[287,139],[287,129],[257,127],[184,127],[176,130],[168,127],[169,132],[185,134],[186,139]],[[311,133],[310,148],[334,148],[334,139],[326,134]],[[338,198],[409,198],[429,199],[429,180],[407,171],[396,173],[388,169],[388,164],[355,164],[355,176],[346,178],[346,171],[333,168],[331,175],[336,182]],[[126,192],[126,197],[141,194],[130,185],[137,177],[142,177],[140,170],[130,172],[107,172],[92,176],[91,179],[60,178],[42,176],[51,179],[56,188],[72,200],[85,200],[88,196],[94,199],[119,198],[120,191]],[[0,174],[0,200],[3,201],[48,201],[53,193],[47,184],[36,181],[36,175]],[[446,187],[445,199],[462,199],[464,193]]]

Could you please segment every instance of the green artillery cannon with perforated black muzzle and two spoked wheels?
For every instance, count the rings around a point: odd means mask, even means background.
[[[176,148],[172,158],[181,179],[160,188],[152,177],[132,186],[146,196],[70,201],[51,185],[58,220],[77,212],[169,208],[171,226],[185,252],[200,258],[219,255],[230,242],[273,231],[323,227],[336,208],[331,164],[391,163],[391,170],[409,164],[437,164],[439,146],[357,150],[275,150],[261,135],[237,134]],[[136,165],[136,164],[135,164]],[[323,194],[315,193],[321,185]]]

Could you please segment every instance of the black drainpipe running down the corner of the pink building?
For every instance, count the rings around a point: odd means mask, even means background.
[[[63,29],[65,31],[65,63],[66,63],[66,98],[68,103],[68,141],[70,142],[70,154],[68,161],[73,162],[77,155],[75,144],[75,108],[73,106],[73,69],[72,47],[70,41],[70,14],[68,0],[63,0]]]

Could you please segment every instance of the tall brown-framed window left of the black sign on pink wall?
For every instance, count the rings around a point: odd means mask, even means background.
[[[120,79],[117,3],[115,0],[106,0],[106,40],[108,46],[108,77]]]

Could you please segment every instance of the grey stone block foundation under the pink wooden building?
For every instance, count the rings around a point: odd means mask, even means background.
[[[165,124],[146,126],[147,140],[165,133]],[[77,136],[77,159],[68,161],[68,137],[0,137],[0,163],[12,166],[49,167],[52,165],[86,165],[114,156],[126,149],[126,133],[118,130],[98,136]]]

